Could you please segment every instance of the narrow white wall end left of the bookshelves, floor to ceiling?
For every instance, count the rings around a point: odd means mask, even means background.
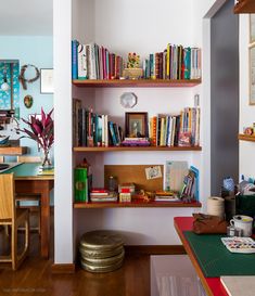
[[[55,118],[54,262],[73,262],[72,1],[53,0]]]

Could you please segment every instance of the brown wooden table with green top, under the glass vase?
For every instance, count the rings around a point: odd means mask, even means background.
[[[50,191],[54,186],[54,176],[40,176],[40,164],[21,164],[4,173],[14,172],[16,193],[41,195],[41,256],[49,258],[50,253]]]

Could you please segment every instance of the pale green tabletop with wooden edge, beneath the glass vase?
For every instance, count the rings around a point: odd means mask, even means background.
[[[40,164],[38,163],[23,163],[3,171],[3,173],[14,173],[14,178],[21,180],[53,180],[53,175],[40,173]]]

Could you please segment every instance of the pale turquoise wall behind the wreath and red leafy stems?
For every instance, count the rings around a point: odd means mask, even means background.
[[[18,60],[20,68],[25,64],[33,64],[40,68],[53,68],[53,38],[50,36],[0,36],[0,57],[1,60]],[[28,68],[25,76],[29,79],[35,77],[35,70]],[[24,105],[24,96],[30,94],[34,104],[30,108]],[[28,118],[29,114],[39,114],[41,107],[44,112],[53,107],[53,94],[40,93],[40,79],[33,83],[27,83],[24,90],[20,83],[20,116]],[[24,124],[21,121],[21,125]],[[22,139],[22,145],[29,147],[29,154],[39,155],[35,141]]]

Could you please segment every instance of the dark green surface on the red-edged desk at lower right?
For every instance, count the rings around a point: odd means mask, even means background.
[[[255,275],[255,254],[229,252],[220,241],[224,235],[183,233],[205,276]]]

